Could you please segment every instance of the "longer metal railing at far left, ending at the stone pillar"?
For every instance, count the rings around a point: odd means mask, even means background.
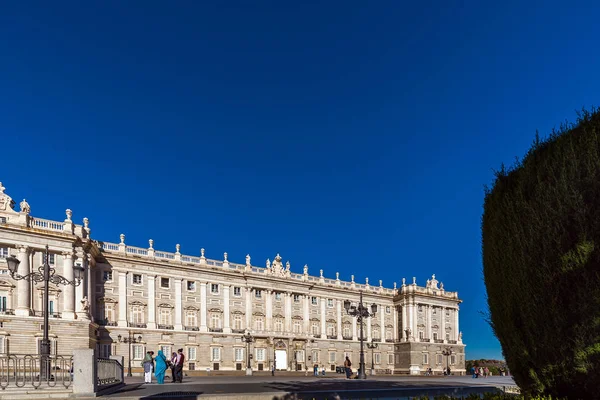
[[[73,384],[72,365],[72,356],[3,354],[0,355],[0,389],[70,388]]]

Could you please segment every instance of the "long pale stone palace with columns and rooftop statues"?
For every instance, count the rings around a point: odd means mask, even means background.
[[[116,243],[92,238],[90,223],[33,217],[27,201],[19,211],[0,183],[0,353],[39,352],[43,334],[43,283],[15,280],[6,258],[19,259],[18,274],[37,271],[48,261],[57,275],[78,286],[50,284],[51,352],[96,348],[100,357],[131,354],[139,367],[147,350],[171,354],[183,348],[184,370],[306,370],[314,364],[335,370],[346,355],[359,365],[360,324],[344,301],[377,305],[363,330],[365,361],[377,373],[419,374],[447,366],[465,373],[465,345],[459,331],[456,292],[444,290],[435,275],[419,286],[416,279],[386,288],[310,275],[308,266],[292,272],[277,254],[266,265],[148,247],[133,247],[120,235]],[[208,252],[206,252],[208,254]],[[249,344],[242,336],[249,332]],[[126,339],[135,338],[135,343]],[[249,353],[247,353],[249,352]],[[250,357],[248,357],[250,356]],[[193,372],[189,372],[193,373]]]

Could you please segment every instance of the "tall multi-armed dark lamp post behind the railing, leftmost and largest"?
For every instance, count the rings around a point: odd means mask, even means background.
[[[49,329],[49,312],[48,312],[48,289],[49,284],[52,282],[55,285],[71,285],[71,286],[79,286],[83,279],[83,267],[75,266],[73,267],[73,277],[72,281],[66,279],[61,275],[56,275],[56,270],[50,267],[48,262],[49,258],[49,250],[48,245],[46,245],[46,252],[44,254],[44,264],[38,268],[37,271],[33,271],[28,273],[27,275],[20,275],[17,272],[19,264],[21,263],[18,258],[14,256],[10,256],[6,259],[6,263],[8,264],[8,270],[10,271],[10,276],[17,281],[25,279],[29,282],[44,282],[44,299],[43,299],[43,312],[44,312],[44,336],[42,341],[40,342],[40,379],[50,379],[50,339],[48,339],[48,329]]]

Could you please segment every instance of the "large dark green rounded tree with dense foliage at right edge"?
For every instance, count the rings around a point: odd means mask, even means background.
[[[583,110],[485,190],[490,324],[530,394],[600,398],[600,111]]]

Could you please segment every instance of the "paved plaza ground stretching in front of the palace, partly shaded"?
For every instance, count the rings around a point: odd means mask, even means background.
[[[213,376],[188,377],[183,383],[144,384],[141,377],[126,379],[126,387],[110,398],[129,399],[196,399],[196,398],[283,398],[295,393],[300,399],[386,398],[410,396],[483,393],[513,386],[511,377],[473,379],[470,376],[376,376],[367,380],[346,380],[340,375],[304,376]]]

